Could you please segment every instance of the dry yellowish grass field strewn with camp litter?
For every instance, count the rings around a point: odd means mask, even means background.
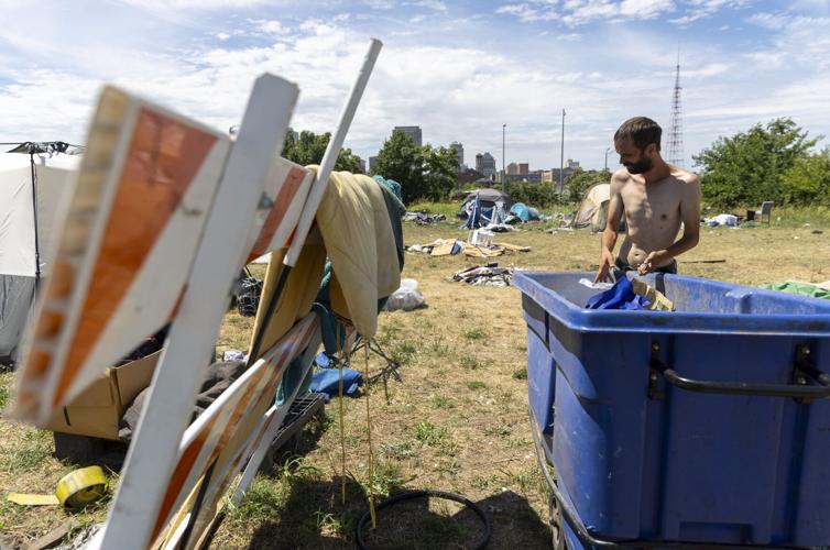
[[[772,228],[701,230],[700,245],[680,258],[680,271],[733,283],[830,279],[830,221],[824,213],[793,217]],[[805,227],[805,223],[809,223]],[[455,220],[406,224],[407,244],[459,237]],[[532,270],[596,268],[599,237],[587,232],[524,230],[501,239],[531,252],[494,261]],[[720,263],[703,261],[724,260]],[[374,493],[402,488],[460,493],[482,504],[493,520],[493,549],[545,548],[547,490],[538,472],[527,422],[526,344],[520,293],[448,280],[481,263],[459,256],[406,255],[405,277],[418,280],[427,307],[383,314],[378,341],[397,361],[402,382],[369,389],[376,457]],[[250,318],[229,312],[219,351],[247,345]],[[362,359],[357,361],[362,370]],[[381,365],[372,359],[371,365]],[[0,375],[0,405],[12,374]],[[367,396],[347,398],[347,499],[340,502],[338,402],[309,425],[296,457],[261,473],[244,502],[229,514],[216,548],[350,548],[367,509]],[[73,468],[52,457],[51,435],[0,419],[0,492],[48,492]],[[113,475],[112,482],[117,483]],[[0,548],[14,548],[46,531],[103,518],[107,503],[84,514],[0,503]],[[466,548],[479,526],[452,506],[413,504],[381,517],[376,548]]]

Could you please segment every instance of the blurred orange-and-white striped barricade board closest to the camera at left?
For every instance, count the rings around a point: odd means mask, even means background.
[[[14,415],[46,421],[175,316],[230,140],[106,87],[43,286]]]

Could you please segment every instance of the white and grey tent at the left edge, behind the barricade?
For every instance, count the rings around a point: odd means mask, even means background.
[[[53,221],[79,161],[66,154],[0,153],[0,363],[18,359],[36,279],[50,268]]]

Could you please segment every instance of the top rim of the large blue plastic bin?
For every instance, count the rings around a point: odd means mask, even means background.
[[[675,282],[705,282],[710,287],[721,287],[724,293],[745,289],[755,295],[780,298],[785,296],[798,302],[807,300],[826,315],[804,314],[736,314],[736,312],[686,312],[686,311],[623,311],[585,309],[556,292],[545,287],[537,277],[567,276],[578,284],[578,277],[593,280],[594,273],[574,272],[515,272],[512,284],[531,297],[548,315],[570,330],[580,332],[648,332],[648,333],[696,333],[696,334],[749,334],[783,337],[830,337],[830,304],[819,298],[788,296],[775,290],[765,290],[718,280],[666,275]],[[652,276],[653,277],[653,276]],[[648,279],[648,277],[646,277]],[[598,290],[599,292],[599,290]],[[671,299],[671,297],[668,297]]]

